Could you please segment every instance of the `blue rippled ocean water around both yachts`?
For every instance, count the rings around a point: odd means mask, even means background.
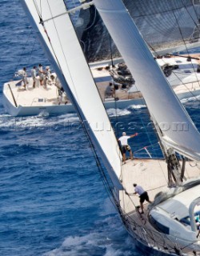
[[[17,0],[1,1],[0,37],[1,85],[16,69],[49,64]],[[198,100],[184,104],[200,129]],[[153,146],[160,156],[144,106],[108,114],[117,135],[123,128],[139,133],[135,154]],[[1,255],[141,255],[106,194],[76,114],[13,118],[1,100],[0,136]]]

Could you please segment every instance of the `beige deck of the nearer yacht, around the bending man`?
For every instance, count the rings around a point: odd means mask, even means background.
[[[186,162],[186,178],[200,177],[200,166],[194,165],[194,162]],[[144,202],[145,213],[139,214],[135,206],[139,206],[138,195],[134,193],[133,183],[137,183],[142,186],[149,194],[150,201],[154,201],[155,194],[160,191],[170,190],[167,187],[167,167],[164,160],[156,159],[134,159],[134,161],[128,160],[126,164],[122,165],[122,183],[125,186],[125,191],[120,191],[120,205],[122,212],[126,216],[126,228],[130,231],[130,234],[134,234],[135,238],[144,244],[148,244],[150,247],[160,246],[163,247],[164,253],[174,253],[174,242],[169,238],[165,238],[165,235],[155,230],[150,224],[148,218],[148,205]],[[136,225],[137,223],[137,225]],[[200,241],[198,239],[199,252],[196,255],[200,255]],[[167,249],[165,250],[164,247]],[[182,246],[184,247],[184,246]],[[193,248],[184,248],[184,253],[193,254]]]

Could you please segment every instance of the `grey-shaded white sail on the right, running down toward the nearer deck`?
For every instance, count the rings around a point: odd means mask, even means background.
[[[162,142],[200,161],[198,130],[166,82],[122,1],[94,0],[94,4],[162,131]]]

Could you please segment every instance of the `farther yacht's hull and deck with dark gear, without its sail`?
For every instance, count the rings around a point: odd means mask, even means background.
[[[195,98],[200,95],[200,73],[198,54],[186,56],[166,56],[156,58],[162,68],[166,79],[170,82],[175,94],[180,100]],[[112,63],[116,63],[113,65]],[[106,109],[124,109],[130,106],[142,105],[144,100],[135,83],[133,76],[123,63],[122,58],[106,62],[94,62],[90,65],[94,82]],[[12,116],[46,114],[63,114],[75,112],[74,106],[63,90],[57,86],[57,75],[52,73],[54,80],[48,78],[40,85],[39,76],[36,77],[36,86],[33,86],[33,78],[27,77],[28,84],[24,87],[20,70],[15,74],[16,79],[6,82],[3,86],[3,103]],[[114,94],[106,95],[106,88],[112,83]],[[87,89],[86,89],[87,90]]]

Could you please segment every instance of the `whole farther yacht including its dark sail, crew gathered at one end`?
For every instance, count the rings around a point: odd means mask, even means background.
[[[152,54],[154,54],[158,65],[161,66],[163,73],[166,75],[166,79],[170,82],[178,98],[182,100],[199,96],[199,54],[190,54],[190,56],[189,54],[185,56],[169,55],[169,48],[170,52],[174,52],[182,50],[183,46],[185,47],[185,44],[181,43],[181,35],[178,33],[179,27],[176,26],[176,22],[174,22],[171,17],[170,24],[165,22],[168,18],[168,12],[170,12],[171,15],[172,8],[170,8],[170,6],[172,3],[168,3],[169,11],[166,10],[166,7],[162,11],[161,22],[164,32],[158,30],[158,25],[155,26],[156,22],[158,22],[158,14],[156,15],[155,12],[156,6],[154,5],[154,1],[145,3],[146,10],[142,10],[141,6],[143,5],[140,5],[138,1],[134,1],[134,5],[132,5],[130,1],[126,1],[126,4],[127,7],[130,8],[139,30],[141,30],[143,37],[148,45],[150,45]],[[70,18],[72,19],[73,26],[76,31],[78,30],[79,41],[84,46],[82,48],[86,54],[87,61],[90,62],[91,73],[98,86],[99,94],[101,95],[106,109],[124,109],[132,105],[143,104],[138,82],[134,81],[134,77],[130,74],[128,69],[124,69],[126,65],[121,64],[124,60],[122,56],[119,55],[116,46],[114,46],[114,42],[112,42],[106,27],[102,26],[102,20],[94,6],[90,5],[93,10],[90,12],[87,10],[85,14],[86,7],[88,6],[85,5],[84,11],[82,11],[82,6],[79,6],[80,2],[78,0],[73,2],[66,0],[66,5],[70,10]],[[150,14],[150,8],[154,8],[154,15]],[[187,15],[184,13],[186,8],[189,13]],[[180,3],[176,3],[176,6],[174,6],[178,18],[181,20],[184,15],[188,20],[187,24],[182,24],[181,22],[180,28],[182,30],[182,38],[184,38],[186,42],[186,49],[189,49],[199,45],[197,40],[198,21],[195,17],[196,13],[199,13],[199,6],[195,11],[189,4],[186,5],[186,8],[182,8]],[[160,10],[161,6],[159,6],[159,11]],[[94,17],[92,17],[92,14],[94,14]],[[154,24],[154,30],[150,26],[146,26],[146,18],[142,18],[143,16],[146,17],[146,14],[150,16],[148,22]],[[89,18],[87,18],[88,16]],[[190,16],[192,18],[190,18]],[[90,22],[86,23],[85,20],[89,20]],[[96,25],[92,26],[91,24]],[[102,31],[102,34],[100,34],[98,30]],[[162,58],[158,55],[166,53],[168,55],[165,57],[162,56]],[[188,58],[188,56],[190,58]],[[48,79],[47,84],[45,82],[45,85],[40,86],[38,77],[36,79],[36,87],[33,88],[33,79],[29,77],[29,84],[26,86],[27,90],[25,90],[22,79],[19,80],[19,73],[20,70],[15,74],[17,77],[14,78],[14,81],[6,82],[3,86],[3,103],[6,112],[12,116],[24,116],[41,113],[63,114],[75,111],[70,99],[67,98],[65,93],[60,94],[60,91],[54,86],[54,82],[52,82],[51,79]],[[54,74],[54,77],[56,77],[56,74]],[[109,86],[110,82],[112,82],[115,87],[114,97],[106,96],[106,87]]]

